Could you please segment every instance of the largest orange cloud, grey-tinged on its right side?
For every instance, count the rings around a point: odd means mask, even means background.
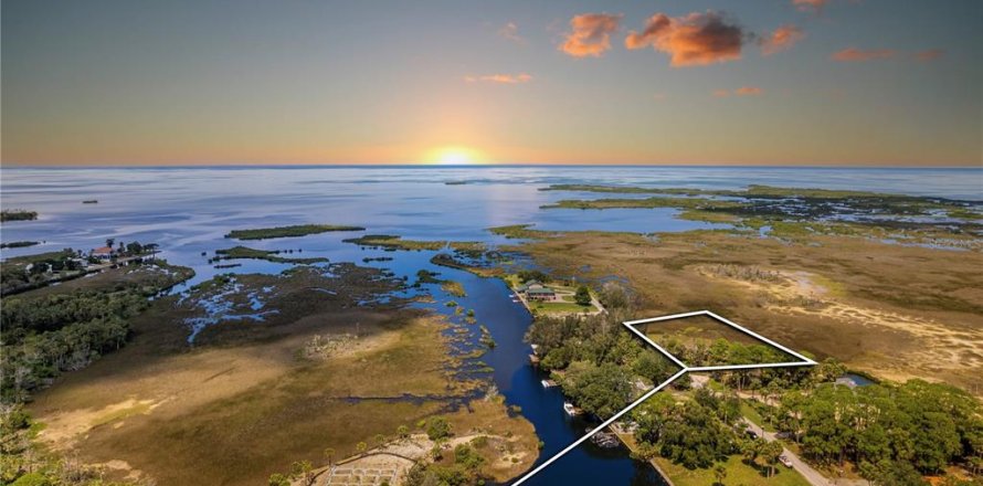
[[[743,41],[744,31],[714,11],[676,18],[656,13],[643,32],[628,33],[625,47],[651,45],[669,54],[674,67],[700,66],[741,59]]]

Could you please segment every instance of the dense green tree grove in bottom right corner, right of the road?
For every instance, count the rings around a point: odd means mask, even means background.
[[[948,384],[910,380],[793,390],[781,398],[774,420],[812,461],[852,462],[877,484],[921,485],[922,475],[951,465],[973,474],[983,466],[983,409]]]

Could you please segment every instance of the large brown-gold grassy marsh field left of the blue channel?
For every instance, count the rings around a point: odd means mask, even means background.
[[[339,266],[332,277],[314,268],[239,275],[242,288],[230,298],[275,286],[264,309],[278,314],[263,325],[214,325],[190,347],[181,320],[201,310],[157,300],[133,323],[128,346],[38,395],[30,408],[46,424],[40,437],[107,465],[109,477],[262,484],[295,461],[324,464],[326,448],[345,457],[360,442],[394,437],[400,426],[415,430],[441,414],[458,433],[517,437],[510,446],[521,459],[489,461],[493,477],[528,467],[537,456],[531,424],[510,418],[500,403],[456,405],[475,383],[453,377],[446,323],[394,305],[355,305],[389,289],[372,272]],[[223,288],[210,282],[189,298]],[[316,336],[343,338],[345,346],[311,352]]]

